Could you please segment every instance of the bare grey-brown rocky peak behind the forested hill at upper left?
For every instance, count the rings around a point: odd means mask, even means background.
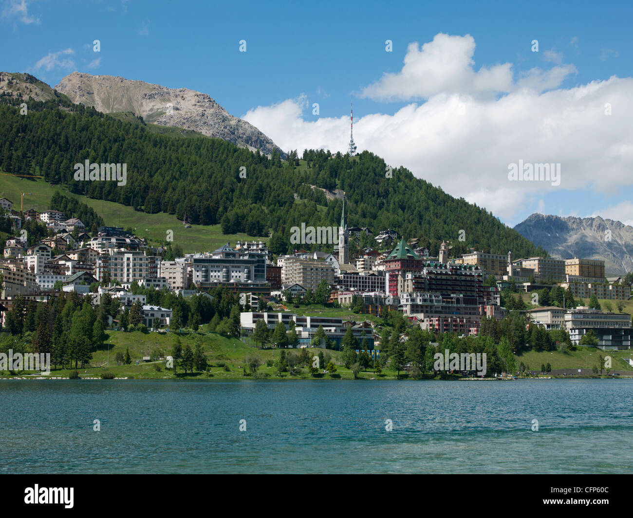
[[[176,126],[227,140],[270,156],[283,152],[255,126],[232,116],[207,94],[187,88],[170,89],[110,75],[73,72],[55,87],[77,104],[102,113],[132,112],[160,126]]]

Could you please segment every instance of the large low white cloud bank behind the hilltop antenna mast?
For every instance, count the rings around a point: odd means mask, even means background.
[[[449,56],[455,41],[441,40],[449,50],[433,53]],[[573,71],[572,65],[533,69],[514,83],[491,78],[498,76],[489,71],[473,72],[468,83],[447,64],[436,70],[435,86],[424,87],[429,98],[423,104],[411,102],[392,114],[355,118],[354,140],[358,151],[367,149],[391,166],[405,166],[415,176],[486,207],[504,221],[513,219],[522,207],[537,206],[539,200],[569,199],[574,190],[619,194],[633,185],[633,78],[611,77],[560,88],[561,80]],[[387,83],[380,80],[375,85],[384,87],[380,91],[385,94],[413,95],[412,83],[406,83],[410,90],[387,89]],[[508,93],[482,96],[484,85],[503,87]],[[610,115],[605,113],[607,104]],[[346,152],[349,115],[307,121],[304,114],[311,117],[310,106],[302,94],[273,106],[258,106],[243,118],[284,151]],[[508,180],[508,166],[520,160],[560,164],[560,185]],[[549,213],[556,210],[551,207]]]

